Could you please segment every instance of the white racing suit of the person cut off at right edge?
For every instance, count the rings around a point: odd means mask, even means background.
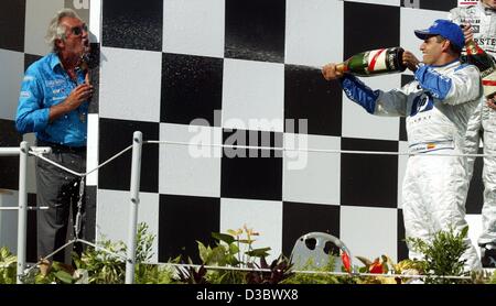
[[[455,23],[470,23],[474,41],[486,53],[496,56],[496,11],[477,6],[455,8],[450,11],[449,19]],[[485,154],[496,154],[496,111],[481,103],[468,122],[465,139],[465,152],[477,153],[481,138]],[[472,178],[475,157],[468,157],[468,176]],[[482,210],[483,232],[478,239],[481,247],[496,247],[496,157],[484,157],[483,170],[484,206]]]

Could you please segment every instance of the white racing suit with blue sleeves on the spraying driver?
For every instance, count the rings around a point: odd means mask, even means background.
[[[459,61],[444,66],[421,66],[416,80],[400,89],[375,90],[351,75],[341,79],[343,90],[369,113],[407,117],[411,155],[402,186],[402,209],[407,238],[432,241],[433,234],[465,221],[466,159],[440,156],[463,153],[467,121],[481,102],[483,88],[478,69]],[[481,269],[476,250],[466,238],[468,250],[462,259],[465,270]],[[421,259],[409,245],[411,259]]]

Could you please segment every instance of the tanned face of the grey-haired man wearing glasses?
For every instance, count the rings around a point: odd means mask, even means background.
[[[65,25],[65,41],[60,45],[61,52],[80,57],[89,47],[86,24],[71,17],[63,18],[61,23]]]

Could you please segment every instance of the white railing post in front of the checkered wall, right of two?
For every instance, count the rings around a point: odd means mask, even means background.
[[[132,162],[131,162],[131,200],[129,204],[128,225],[128,249],[126,261],[126,284],[134,283],[134,261],[136,261],[136,234],[138,222],[138,205],[140,204],[140,174],[141,174],[141,149],[143,135],[136,131],[132,134]]]

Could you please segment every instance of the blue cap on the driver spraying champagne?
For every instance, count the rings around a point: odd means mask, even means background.
[[[465,45],[465,36],[463,35],[463,31],[460,25],[445,19],[438,19],[427,30],[416,30],[416,35],[421,40],[429,39],[433,35],[441,35],[449,40],[459,50],[462,50]]]

